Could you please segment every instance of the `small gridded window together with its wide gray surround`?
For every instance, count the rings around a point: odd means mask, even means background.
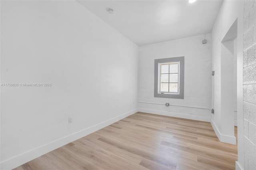
[[[184,99],[184,57],[155,59],[154,97]]]

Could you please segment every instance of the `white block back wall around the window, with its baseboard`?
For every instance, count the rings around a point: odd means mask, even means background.
[[[141,46],[139,57],[139,111],[210,121],[212,75],[211,34]],[[184,99],[154,97],[154,59],[185,56]],[[152,104],[157,103],[157,104]],[[166,107],[170,105],[201,107]],[[158,105],[162,104],[162,105]]]

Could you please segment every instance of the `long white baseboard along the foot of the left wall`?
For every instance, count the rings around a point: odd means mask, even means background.
[[[100,130],[101,128],[107,127],[108,125],[111,125],[112,123],[115,123],[121,119],[124,119],[136,112],[138,112],[138,109],[134,109],[132,111],[129,111],[127,113],[124,113],[124,114],[114,117],[112,119],[108,119],[107,121],[104,121],[104,122],[94,125],[92,127],[85,128],[83,130],[80,130],[80,131],[70,134],[68,136],[64,136],[63,138],[60,138],[58,140],[52,141],[50,143],[44,144],[44,145],[34,148],[32,150],[29,150],[28,152],[17,155],[8,160],[4,160],[3,162],[1,162],[0,169],[1,170],[11,170],[13,168],[16,168],[17,166],[20,166],[30,160],[33,160],[39,156],[42,156],[43,154],[46,154],[54,149],[64,146],[65,144],[73,142],[74,140],[82,138],[92,132]]]

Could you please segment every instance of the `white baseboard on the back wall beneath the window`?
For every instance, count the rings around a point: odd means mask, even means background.
[[[179,117],[184,119],[192,119],[196,121],[210,122],[210,117],[206,117],[202,115],[182,114],[182,113],[176,113],[176,112],[157,111],[157,110],[143,109],[143,108],[138,108],[138,111],[144,112],[144,113],[152,113],[156,115],[164,115],[164,116]]]

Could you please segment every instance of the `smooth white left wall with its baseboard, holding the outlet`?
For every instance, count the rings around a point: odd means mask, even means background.
[[[1,168],[137,111],[138,46],[76,1],[1,1]],[[68,124],[68,117],[73,123]]]

